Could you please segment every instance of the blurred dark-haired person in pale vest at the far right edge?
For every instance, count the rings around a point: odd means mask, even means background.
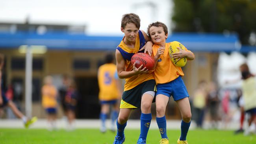
[[[256,78],[250,73],[249,66],[244,63],[239,70],[242,75],[242,92],[244,100],[244,111],[250,114],[250,126],[245,130],[245,135],[256,134]]]

